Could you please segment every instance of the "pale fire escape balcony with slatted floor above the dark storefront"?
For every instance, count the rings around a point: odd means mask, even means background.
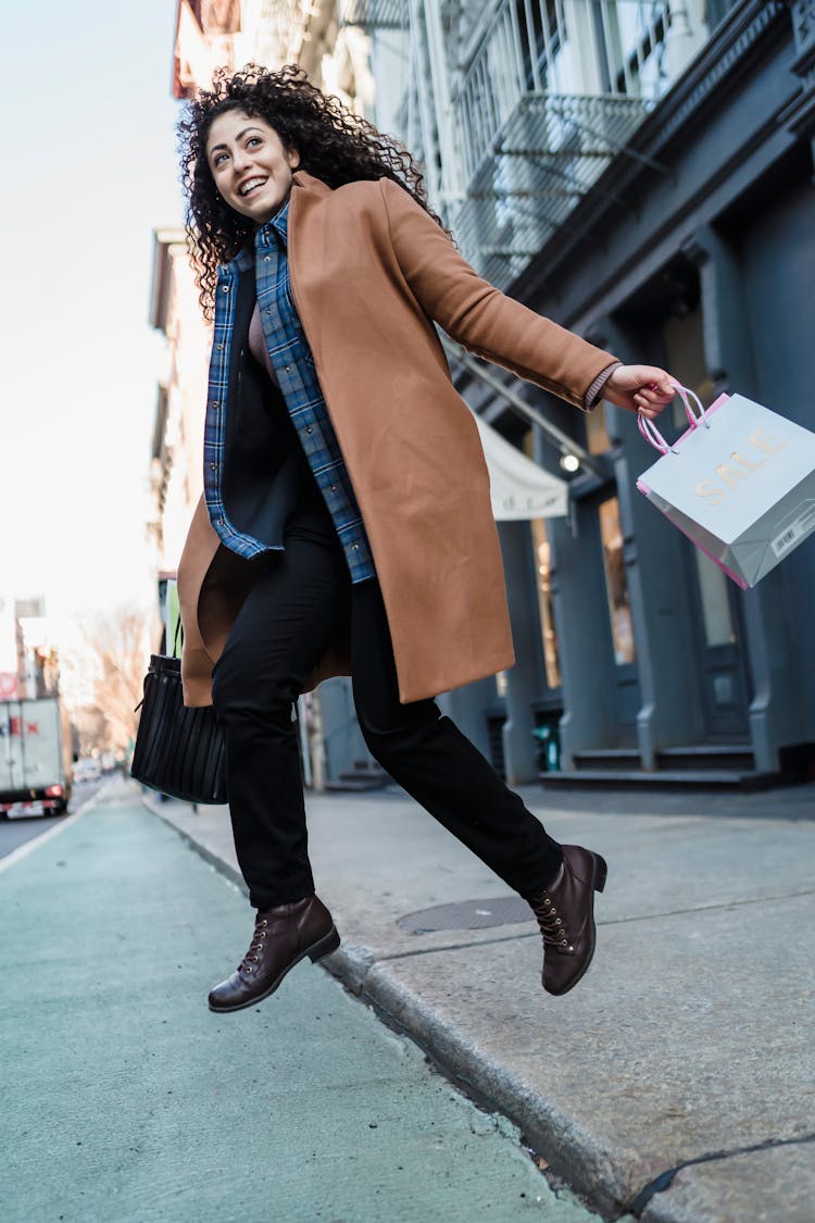
[[[687,5],[643,0],[495,11],[451,98],[467,186],[448,215],[488,279],[506,287],[624,149],[670,84],[677,20],[687,27]]]

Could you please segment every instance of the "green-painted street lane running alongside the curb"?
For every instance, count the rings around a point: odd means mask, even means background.
[[[596,1218],[308,961],[210,1014],[250,912],[136,786],[0,865],[0,927],[6,1223]]]

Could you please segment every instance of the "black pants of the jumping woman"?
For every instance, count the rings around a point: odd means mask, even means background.
[[[351,585],[331,520],[297,515],[285,554],[258,566],[213,682],[252,905],[314,892],[292,713],[341,616],[351,618],[354,706],[371,755],[505,883],[538,895],[561,865],[557,841],[434,701],[400,704],[379,582]]]

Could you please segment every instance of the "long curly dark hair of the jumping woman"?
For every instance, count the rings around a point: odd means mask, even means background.
[[[187,248],[204,314],[211,317],[217,267],[228,263],[254,231],[253,221],[221,197],[206,160],[213,121],[243,110],[274,127],[299,166],[330,187],[359,180],[391,179],[441,225],[428,205],[422,174],[408,150],[391,136],[313,86],[303,68],[286,64],[276,72],[247,64],[239,72],[219,70],[211,89],[188,103],[178,122],[181,182],[187,197]]]

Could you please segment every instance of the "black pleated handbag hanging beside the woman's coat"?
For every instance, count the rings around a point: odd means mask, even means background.
[[[181,659],[153,654],[131,777],[185,802],[226,802],[224,737],[211,704],[185,707]]]

